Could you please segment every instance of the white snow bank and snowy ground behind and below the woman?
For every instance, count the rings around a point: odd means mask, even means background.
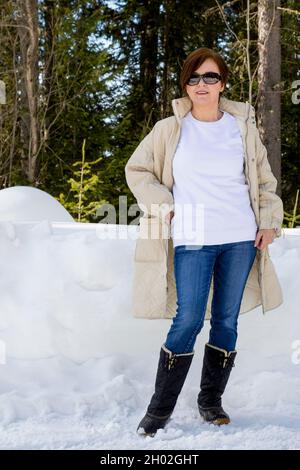
[[[284,303],[240,317],[231,424],[198,415],[205,322],[171,422],[144,438],[171,320],[131,316],[136,227],[28,220],[0,222],[1,449],[300,448],[299,229],[269,246]]]

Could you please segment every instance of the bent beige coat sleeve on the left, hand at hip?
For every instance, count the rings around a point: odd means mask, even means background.
[[[139,143],[125,165],[128,187],[148,215],[163,217],[174,208],[173,194],[154,171],[155,126]]]

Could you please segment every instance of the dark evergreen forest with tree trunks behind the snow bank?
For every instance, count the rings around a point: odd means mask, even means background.
[[[0,189],[33,186],[80,222],[123,220],[124,167],[182,96],[199,47],[255,106],[285,227],[300,225],[300,5],[280,0],[0,0]],[[124,198],[125,196],[125,198]],[[102,215],[101,215],[102,214]],[[133,215],[133,214],[132,214]]]

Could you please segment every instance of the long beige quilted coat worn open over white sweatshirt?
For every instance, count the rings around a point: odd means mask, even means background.
[[[179,141],[181,119],[190,111],[188,96],[172,100],[173,116],[161,119],[144,137],[125,166],[127,184],[143,211],[134,254],[132,314],[136,318],[172,318],[177,295],[174,277],[174,248],[165,213],[174,208],[172,158]],[[221,97],[219,108],[235,116],[245,151],[244,172],[251,206],[260,229],[275,228],[282,235],[282,200],[276,195],[277,180],[271,172],[267,151],[259,137],[254,107],[248,102]],[[153,237],[158,229],[159,236]],[[150,233],[150,231],[153,232]],[[213,279],[205,318],[211,316]],[[282,289],[268,246],[257,250],[244,290],[240,313],[258,305],[262,312],[283,303]]]

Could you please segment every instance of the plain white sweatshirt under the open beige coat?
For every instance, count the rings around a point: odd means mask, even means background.
[[[182,119],[173,158],[177,245],[215,245],[255,240],[257,224],[244,174],[244,149],[236,119],[223,112],[218,121]]]

